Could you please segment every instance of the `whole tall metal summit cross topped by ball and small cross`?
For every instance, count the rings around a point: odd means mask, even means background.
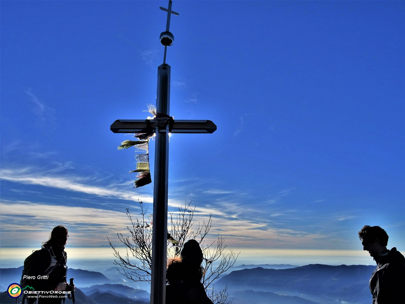
[[[173,44],[173,34],[168,31],[171,14],[169,1],[166,32],[160,34],[164,45],[163,64],[158,67],[158,89],[156,109],[158,116],[169,116],[170,105],[170,66],[166,64],[166,48]],[[169,120],[148,122],[155,128],[155,172],[153,187],[153,229],[152,229],[152,269],[151,304],[164,304],[166,300],[166,262],[167,262],[167,193],[168,193],[168,146],[171,133],[213,133],[217,126],[211,120],[176,120],[169,127]],[[116,120],[111,124],[114,133],[141,133],[147,126],[145,120]]]

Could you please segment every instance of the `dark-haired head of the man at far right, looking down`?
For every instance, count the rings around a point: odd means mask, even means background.
[[[387,250],[388,234],[379,226],[365,225],[358,232],[358,237],[363,245],[363,250],[367,250],[372,257]]]

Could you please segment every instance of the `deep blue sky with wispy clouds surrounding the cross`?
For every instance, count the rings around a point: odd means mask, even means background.
[[[167,1],[1,2],[1,246],[105,245],[132,189],[130,135],[156,101]],[[169,209],[193,200],[231,248],[405,250],[405,2],[173,2]],[[153,160],[154,144],[150,146]],[[153,161],[151,161],[153,172]],[[151,213],[151,212],[150,212]],[[367,253],[364,253],[367,254]]]

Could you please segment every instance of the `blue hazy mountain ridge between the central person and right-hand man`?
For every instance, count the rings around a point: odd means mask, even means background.
[[[314,303],[368,303],[369,278],[375,266],[310,264],[288,269],[252,268],[232,271],[220,278],[217,285],[228,285],[230,293],[272,292],[299,296]],[[262,298],[251,294],[252,303]],[[343,301],[343,302],[342,302]],[[236,303],[236,302],[235,302]]]

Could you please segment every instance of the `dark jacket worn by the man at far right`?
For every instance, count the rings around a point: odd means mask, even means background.
[[[374,257],[374,260],[377,268],[370,278],[373,304],[403,303],[405,257],[394,247]]]

